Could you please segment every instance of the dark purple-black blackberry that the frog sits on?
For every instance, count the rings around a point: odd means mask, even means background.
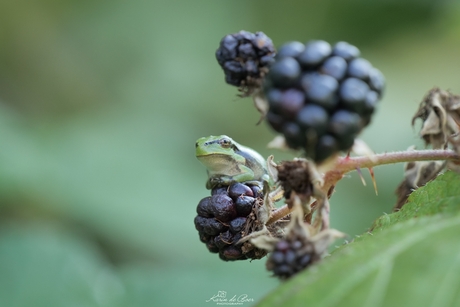
[[[219,253],[224,261],[260,259],[266,252],[249,242],[237,242],[250,231],[253,208],[263,198],[258,186],[234,183],[214,188],[211,196],[203,198],[196,211],[195,228],[200,240],[211,253]]]

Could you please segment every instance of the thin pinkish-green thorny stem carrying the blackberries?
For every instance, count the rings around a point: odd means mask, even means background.
[[[396,151],[372,156],[362,157],[340,157],[332,169],[324,174],[324,185],[321,190],[327,193],[336,183],[343,178],[346,173],[352,172],[358,168],[372,168],[380,165],[401,163],[401,162],[416,162],[416,161],[437,161],[451,160],[460,161],[460,155],[455,151],[447,150],[409,150]],[[267,225],[270,225],[284,216],[291,213],[291,209],[287,205],[278,208],[272,212]]]

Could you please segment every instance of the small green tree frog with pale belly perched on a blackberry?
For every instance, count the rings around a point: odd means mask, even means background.
[[[195,147],[196,157],[208,170],[207,189],[234,182],[260,186],[270,179],[264,158],[226,135],[200,138]]]

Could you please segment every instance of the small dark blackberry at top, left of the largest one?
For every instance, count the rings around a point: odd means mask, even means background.
[[[274,56],[275,47],[263,32],[240,31],[226,35],[216,51],[225,82],[241,87],[247,94],[260,87]]]

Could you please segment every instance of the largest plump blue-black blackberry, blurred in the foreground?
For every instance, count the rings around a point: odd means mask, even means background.
[[[267,121],[293,149],[321,162],[351,148],[382,96],[382,73],[346,42],[283,45],[265,78]]]

